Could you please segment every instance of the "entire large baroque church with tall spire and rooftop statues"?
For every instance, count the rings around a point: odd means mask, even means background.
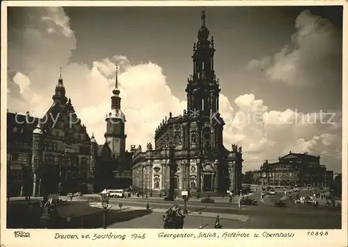
[[[141,146],[133,156],[133,186],[156,195],[189,190],[226,193],[242,186],[242,147],[223,147],[219,114],[219,79],[214,73],[214,39],[208,40],[205,12],[193,45],[193,75],[187,80],[187,109],[169,117],[155,131],[155,149]]]

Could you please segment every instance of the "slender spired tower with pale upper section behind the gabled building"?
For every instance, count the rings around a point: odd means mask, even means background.
[[[113,89],[112,93],[111,111],[106,114],[106,133],[104,134],[104,137],[111,149],[111,154],[122,156],[125,154],[127,135],[125,135],[125,114],[123,114],[120,109],[121,98],[120,90],[118,89],[118,66],[116,66],[115,89]]]

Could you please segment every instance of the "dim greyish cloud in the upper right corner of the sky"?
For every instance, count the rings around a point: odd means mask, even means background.
[[[262,70],[269,82],[289,85],[342,82],[342,38],[333,24],[304,10],[294,28],[290,44],[274,56],[251,60],[248,68]]]

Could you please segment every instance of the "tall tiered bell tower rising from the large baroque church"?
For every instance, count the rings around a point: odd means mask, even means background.
[[[219,79],[214,71],[214,38],[209,38],[203,9],[198,41],[193,43],[193,74],[187,80],[187,114],[197,121],[197,145],[191,147],[212,151],[222,147],[223,119],[219,115]],[[192,138],[191,138],[192,139]],[[194,140],[193,140],[194,141]],[[193,146],[192,146],[193,145]],[[197,147],[198,146],[198,147]]]

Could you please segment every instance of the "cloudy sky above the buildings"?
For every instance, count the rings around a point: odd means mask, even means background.
[[[319,154],[340,172],[342,8],[205,10],[223,141],[242,145],[244,172],[289,151]],[[145,147],[168,112],[186,107],[200,22],[198,7],[8,8],[8,110],[42,117],[63,67],[68,98],[103,144],[119,64],[127,148]]]

